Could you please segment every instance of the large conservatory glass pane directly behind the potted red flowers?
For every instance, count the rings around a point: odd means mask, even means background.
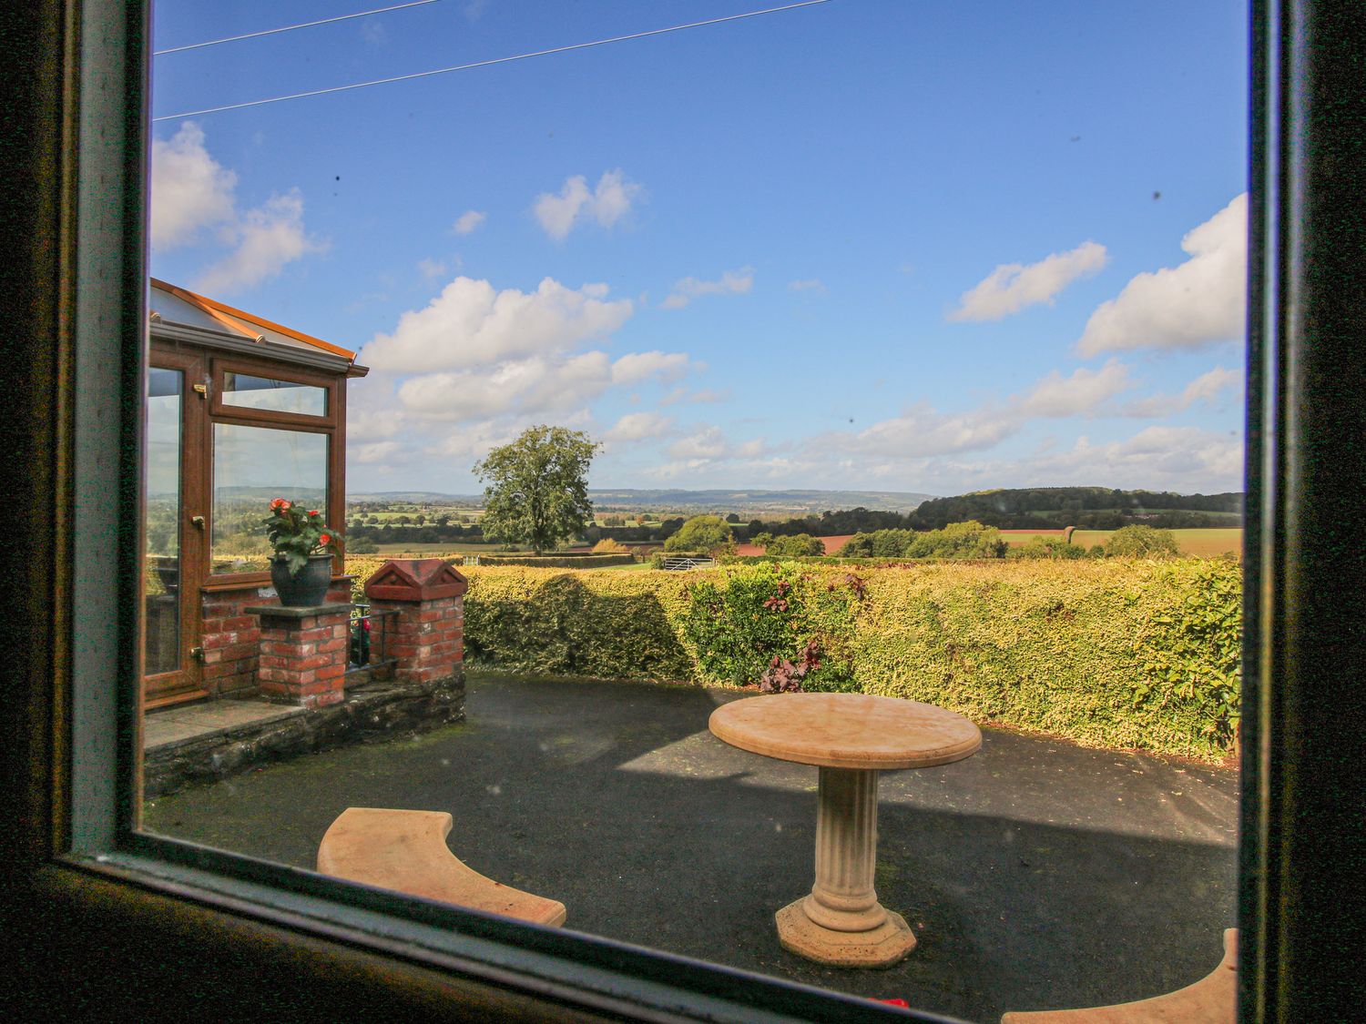
[[[272,498],[325,508],[328,436],[213,426],[213,572],[269,568],[265,517]]]

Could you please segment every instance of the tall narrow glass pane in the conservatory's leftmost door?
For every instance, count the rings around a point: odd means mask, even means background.
[[[180,370],[148,373],[146,673],[173,672],[180,650]]]

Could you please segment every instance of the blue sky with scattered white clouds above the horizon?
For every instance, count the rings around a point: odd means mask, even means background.
[[[385,3],[156,5],[154,48]],[[348,490],[1240,489],[1247,14],[440,0],[154,57],[152,268],[359,350]]]

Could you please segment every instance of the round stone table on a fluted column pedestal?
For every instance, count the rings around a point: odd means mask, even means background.
[[[866,694],[773,694],[721,705],[708,722],[732,747],[821,771],[816,885],[775,915],[783,948],[821,964],[891,967],[915,948],[877,901],[877,773],[947,765],[982,733],[953,711]]]

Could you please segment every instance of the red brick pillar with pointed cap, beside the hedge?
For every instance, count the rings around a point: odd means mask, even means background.
[[[370,576],[370,613],[393,612],[384,623],[385,649],[370,657],[395,658],[400,683],[436,683],[459,674],[464,659],[464,591],[469,582],[440,558],[391,558]],[[377,620],[372,620],[374,623]]]

